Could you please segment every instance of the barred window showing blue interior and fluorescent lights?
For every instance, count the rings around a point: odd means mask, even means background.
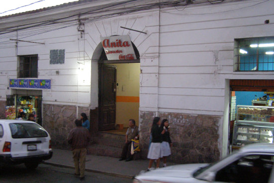
[[[274,71],[274,37],[235,39],[234,71]]]

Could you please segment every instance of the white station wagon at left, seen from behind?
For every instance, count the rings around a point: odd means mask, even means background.
[[[52,157],[50,136],[32,121],[0,120],[0,165],[24,163],[35,169]]]

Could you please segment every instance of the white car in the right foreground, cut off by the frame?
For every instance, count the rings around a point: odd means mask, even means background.
[[[252,144],[215,164],[169,166],[134,183],[274,183],[274,144]]]

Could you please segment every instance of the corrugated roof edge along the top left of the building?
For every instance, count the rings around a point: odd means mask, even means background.
[[[91,2],[91,1],[95,1],[95,0],[78,0],[78,1],[73,1],[73,2],[67,2],[67,3],[55,5],[55,6],[49,6],[49,7],[44,7],[44,8],[40,8],[40,9],[34,9],[34,10],[30,10],[30,11],[25,11],[25,12],[0,16],[0,19],[20,16],[20,15],[25,15],[25,14],[31,14],[31,13],[37,13],[37,12],[47,11],[47,10],[60,8],[60,7],[67,7],[67,6],[71,6],[71,5],[78,5],[78,4],[81,4],[81,3]]]

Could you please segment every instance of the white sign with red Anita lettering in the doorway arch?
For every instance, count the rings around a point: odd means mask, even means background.
[[[101,37],[108,60],[136,60],[129,35]]]

